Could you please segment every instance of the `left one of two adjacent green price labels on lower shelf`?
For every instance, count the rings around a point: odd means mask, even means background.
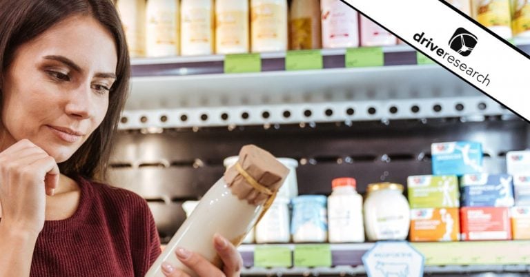
[[[291,267],[291,249],[284,246],[257,245],[254,249],[255,267]]]

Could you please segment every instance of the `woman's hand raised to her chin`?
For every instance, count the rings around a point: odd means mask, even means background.
[[[46,194],[59,183],[55,158],[27,139],[0,153],[1,225],[37,236],[44,226]]]

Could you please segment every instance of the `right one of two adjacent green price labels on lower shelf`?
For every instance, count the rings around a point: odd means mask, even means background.
[[[329,245],[296,245],[296,267],[331,267],[331,247]]]

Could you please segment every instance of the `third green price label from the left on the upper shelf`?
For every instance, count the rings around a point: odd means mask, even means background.
[[[383,65],[383,48],[362,47],[346,49],[346,68],[364,68]]]

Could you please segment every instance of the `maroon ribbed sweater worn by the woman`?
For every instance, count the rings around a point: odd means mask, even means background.
[[[81,189],[77,211],[44,223],[30,276],[143,277],[161,252],[144,198],[84,178],[76,181]]]

